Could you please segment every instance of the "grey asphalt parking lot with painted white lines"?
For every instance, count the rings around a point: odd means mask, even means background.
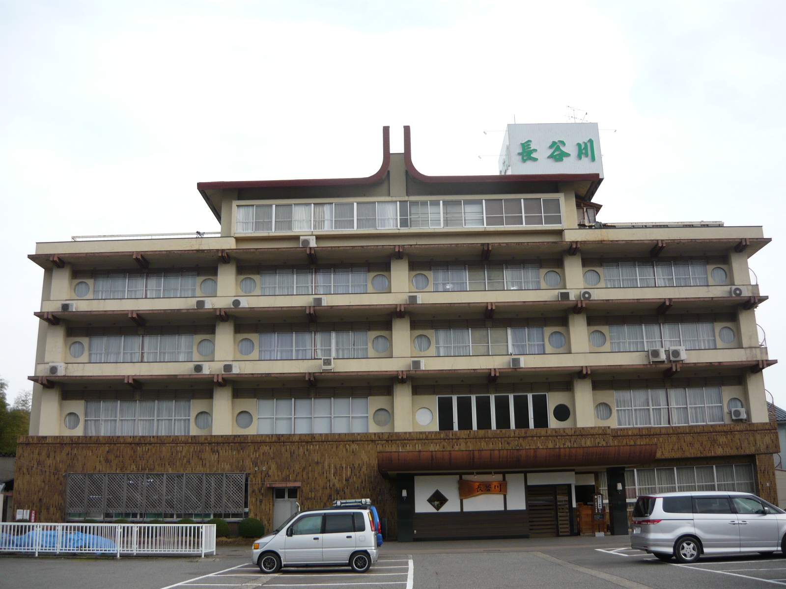
[[[219,547],[207,558],[0,557],[0,587],[31,589],[718,589],[786,586],[780,553],[702,558],[693,565],[660,562],[630,549],[626,536],[387,542],[368,573],[346,569],[283,569],[263,575],[248,547]]]

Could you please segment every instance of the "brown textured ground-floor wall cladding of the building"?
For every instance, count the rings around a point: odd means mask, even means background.
[[[762,496],[776,500],[771,457],[779,448],[776,426],[744,423],[290,436],[23,436],[17,447],[14,503],[19,509],[39,510],[39,521],[63,521],[67,472],[247,472],[249,514],[266,525],[273,520],[273,493],[265,483],[297,481],[303,485],[303,509],[325,507],[333,499],[370,497],[395,537],[395,482],[380,475],[376,452],[630,444],[657,444],[658,461],[700,464],[747,456],[755,461],[759,485],[770,483],[771,495],[760,488]]]

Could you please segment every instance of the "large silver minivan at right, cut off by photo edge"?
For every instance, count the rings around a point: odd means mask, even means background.
[[[750,493],[658,493],[637,499],[630,547],[696,562],[702,554],[786,554],[784,534],[786,512]]]

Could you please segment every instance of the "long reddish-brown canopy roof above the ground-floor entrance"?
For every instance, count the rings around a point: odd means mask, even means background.
[[[376,452],[376,468],[383,477],[387,477],[391,472],[632,466],[652,463],[657,453],[657,444],[591,448]]]

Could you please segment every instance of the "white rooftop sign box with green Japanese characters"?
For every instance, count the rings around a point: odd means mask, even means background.
[[[601,174],[597,123],[508,125],[500,174]]]

